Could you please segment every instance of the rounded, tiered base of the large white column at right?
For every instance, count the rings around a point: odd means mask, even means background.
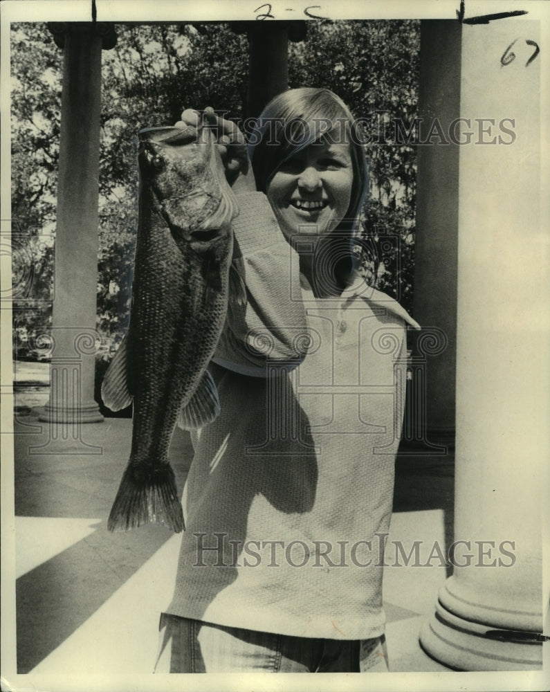
[[[421,630],[420,645],[455,671],[540,671],[540,637],[539,632],[480,625],[452,614],[438,602]]]

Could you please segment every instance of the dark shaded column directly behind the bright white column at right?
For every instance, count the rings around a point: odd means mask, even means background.
[[[446,347],[426,358],[423,396],[408,409],[423,446],[439,455],[455,442],[459,147],[441,144],[438,132],[448,137],[459,117],[460,47],[458,21],[422,22],[414,319],[439,330]],[[423,355],[416,344],[413,354]],[[416,378],[416,395],[419,387]]]

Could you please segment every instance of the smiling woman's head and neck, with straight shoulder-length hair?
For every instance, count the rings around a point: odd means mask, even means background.
[[[338,295],[355,268],[351,239],[367,192],[361,141],[346,104],[329,89],[310,87],[277,95],[250,138],[257,189],[266,192],[287,242],[304,247],[300,270],[319,295]],[[303,236],[309,245],[300,244]],[[327,255],[334,261],[313,262]]]

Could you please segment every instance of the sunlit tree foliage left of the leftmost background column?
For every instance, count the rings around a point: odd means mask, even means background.
[[[11,39],[14,350],[36,358],[51,322],[62,55],[43,24],[14,24]]]

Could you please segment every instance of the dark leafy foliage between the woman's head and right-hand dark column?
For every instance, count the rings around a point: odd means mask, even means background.
[[[395,121],[416,118],[419,82],[416,21],[309,22],[307,39],[291,44],[290,86],[327,86],[364,122],[370,196],[363,256],[377,288],[412,311],[416,152],[394,137]]]

